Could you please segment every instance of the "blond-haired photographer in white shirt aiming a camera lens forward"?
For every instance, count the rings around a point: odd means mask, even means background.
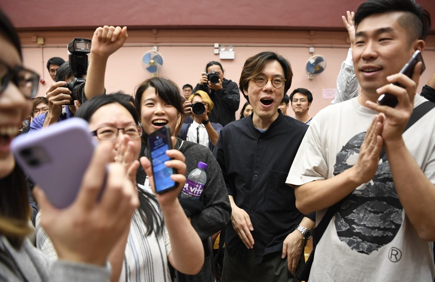
[[[192,115],[193,121],[181,126],[178,137],[182,140],[202,144],[213,151],[222,129],[220,124],[211,123],[209,120],[213,106],[208,94],[202,90],[190,95],[183,107],[185,113]]]

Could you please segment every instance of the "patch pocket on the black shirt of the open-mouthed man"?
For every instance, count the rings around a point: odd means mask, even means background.
[[[294,190],[286,184],[287,173],[271,170],[266,191],[268,212],[292,212],[296,209]]]

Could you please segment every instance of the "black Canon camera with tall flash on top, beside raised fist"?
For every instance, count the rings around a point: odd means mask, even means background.
[[[84,87],[83,75],[88,71],[88,54],[91,52],[91,39],[74,38],[68,44],[69,66],[74,74],[71,82],[64,87],[71,91],[71,102],[68,106],[74,105],[74,100],[82,103],[81,89]]]

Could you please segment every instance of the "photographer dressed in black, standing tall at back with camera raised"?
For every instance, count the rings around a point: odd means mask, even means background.
[[[201,74],[193,93],[198,90],[206,92],[215,109],[210,114],[210,121],[226,126],[236,120],[236,111],[240,104],[239,88],[235,82],[224,78],[224,69],[219,62],[209,62],[205,71]]]

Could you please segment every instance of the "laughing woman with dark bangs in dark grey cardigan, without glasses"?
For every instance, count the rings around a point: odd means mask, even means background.
[[[169,127],[173,137],[177,136],[185,114],[184,101],[175,83],[160,77],[147,79],[137,88],[135,99],[141,113],[145,137],[164,125]],[[186,215],[189,216],[192,226],[205,246],[204,266],[200,273],[195,276],[179,273],[178,281],[214,281],[211,265],[212,254],[207,248],[207,240],[220,231],[230,219],[231,207],[228,192],[220,166],[208,147],[179,138],[176,139],[174,147],[182,152],[186,158],[186,176],[197,167],[199,161],[208,164],[207,182],[199,200],[182,199],[181,201]],[[147,155],[146,143],[142,152],[145,156]],[[144,182],[145,173],[140,170],[138,183]],[[180,198],[180,194],[178,197]],[[198,208],[198,204],[199,206],[202,204],[202,207]]]

